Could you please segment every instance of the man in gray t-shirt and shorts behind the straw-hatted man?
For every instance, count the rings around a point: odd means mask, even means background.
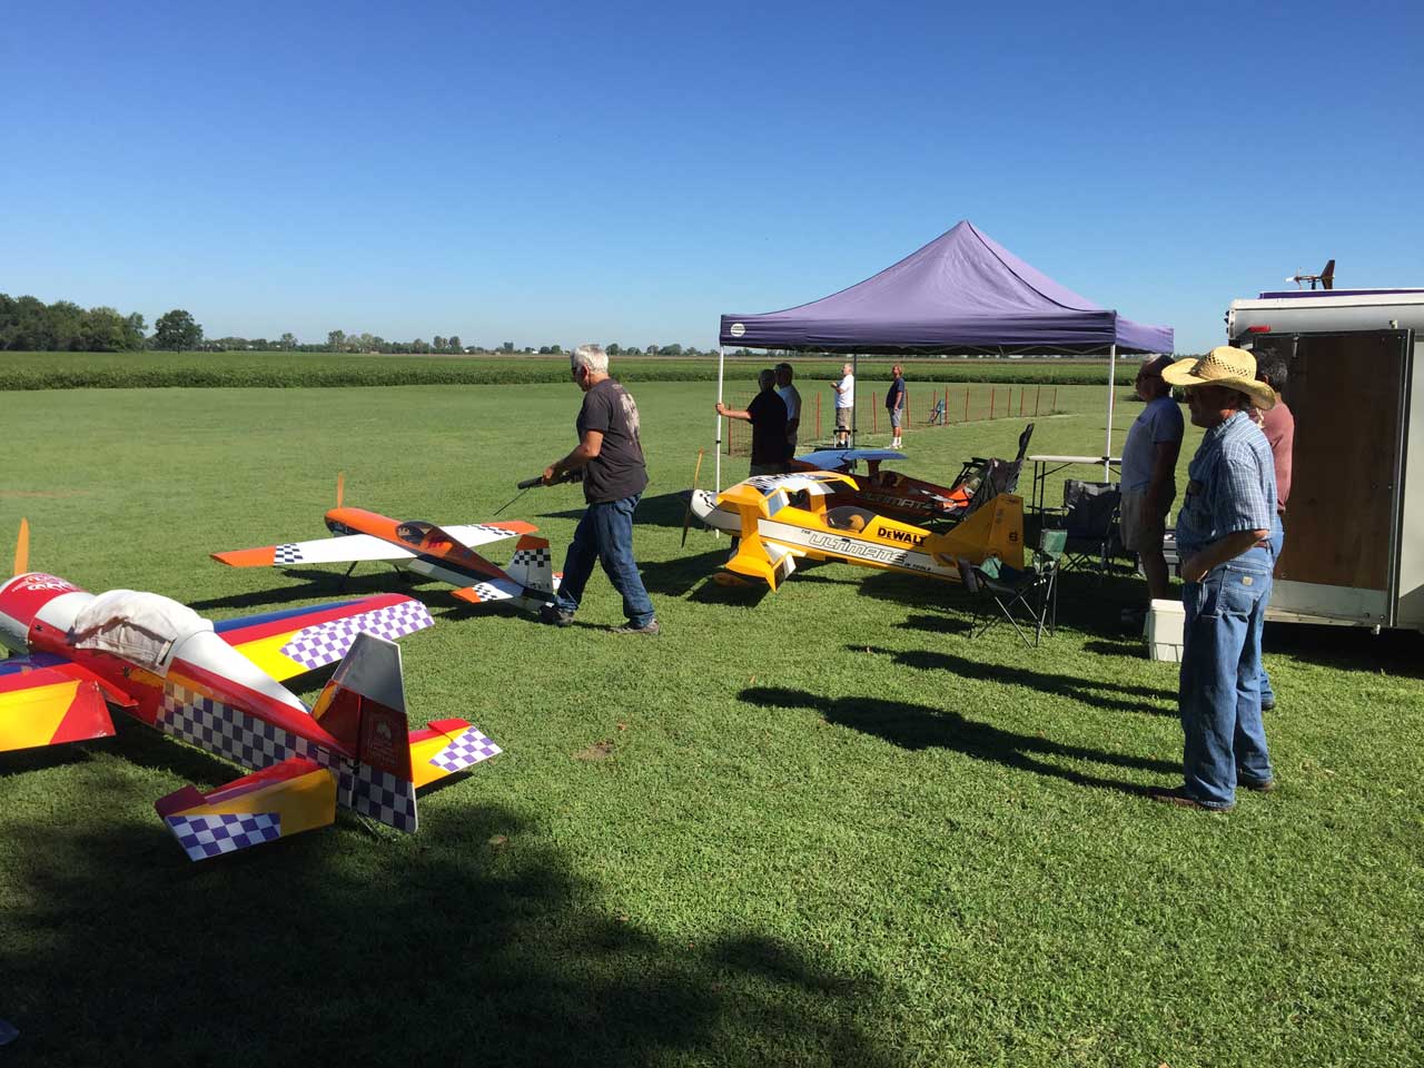
[[[1138,370],[1138,396],[1146,402],[1128,430],[1122,446],[1122,544],[1142,560],[1148,597],[1168,595],[1166,558],[1162,538],[1166,514],[1176,500],[1176,457],[1182,451],[1182,409],[1172,400],[1172,387],[1162,369],[1171,356],[1146,360]],[[1134,618],[1136,622],[1136,618]]]

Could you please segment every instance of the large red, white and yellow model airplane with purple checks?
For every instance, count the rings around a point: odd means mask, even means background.
[[[19,551],[16,570],[24,570]],[[43,572],[0,587],[0,752],[108,738],[110,706],[251,769],[155,803],[191,860],[332,823],[416,830],[416,789],[500,752],[463,719],[406,722],[400,648],[431,625],[400,594],[214,624],[158,594]],[[310,709],[283,679],[337,664]]]

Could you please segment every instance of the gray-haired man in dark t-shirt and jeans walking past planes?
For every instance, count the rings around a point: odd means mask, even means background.
[[[602,561],[614,588],[622,594],[628,617],[614,634],[658,634],[652,601],[632,558],[632,513],[648,486],[638,440],[638,406],[628,390],[608,377],[608,353],[600,346],[580,345],[568,362],[574,382],[584,390],[584,406],[575,423],[578,446],[544,468],[544,483],[581,470],[588,508],[568,544],[554,604],[540,609],[540,619],[555,627],[574,622],[594,564]]]

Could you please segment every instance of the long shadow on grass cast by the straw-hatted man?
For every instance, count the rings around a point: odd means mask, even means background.
[[[1078,786],[1118,790],[1134,796],[1145,795],[1148,787],[1119,779],[1085,775],[1040,758],[1088,760],[1163,775],[1180,770],[1178,763],[1065,745],[1037,735],[1020,735],[967,719],[951,709],[911,705],[904,701],[823,698],[803,689],[779,686],[752,686],[743,689],[738,696],[762,708],[809,708],[819,712],[827,723],[840,723],[852,731],[883,738],[901,749],[953,749],[975,760],[988,760],[1022,772],[1064,779]]]

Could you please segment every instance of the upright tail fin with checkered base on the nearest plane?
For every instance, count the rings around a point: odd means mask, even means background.
[[[356,755],[355,769],[347,766],[340,775],[337,803],[414,833],[416,785],[400,646],[365,631],[357,634],[312,716]]]

